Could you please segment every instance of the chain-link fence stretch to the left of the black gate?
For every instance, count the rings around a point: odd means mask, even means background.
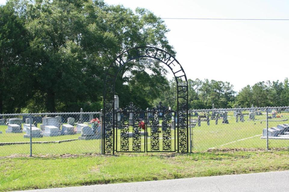
[[[0,115],[0,156],[101,153],[101,112]]]

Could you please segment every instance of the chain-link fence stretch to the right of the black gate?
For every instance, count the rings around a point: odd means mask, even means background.
[[[193,151],[289,148],[289,107],[189,111]]]

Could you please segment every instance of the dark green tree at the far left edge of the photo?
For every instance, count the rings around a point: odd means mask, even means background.
[[[20,112],[33,93],[23,22],[11,3],[0,6],[0,113]]]

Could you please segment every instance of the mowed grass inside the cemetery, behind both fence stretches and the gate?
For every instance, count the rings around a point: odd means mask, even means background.
[[[229,115],[232,115],[229,113]],[[288,113],[281,114],[284,118],[289,119]],[[265,120],[266,116],[255,116],[256,120]],[[194,119],[195,117],[193,117]],[[235,122],[235,117],[228,116],[229,124],[222,124],[222,119],[219,119],[218,125],[215,125],[215,120],[210,120],[210,126],[207,122],[201,122],[201,126],[192,128],[193,133],[193,151],[200,152],[209,148],[266,148],[266,140],[260,139],[263,128],[266,128],[266,121],[248,121],[249,116],[244,116],[245,122]],[[283,118],[283,119],[284,119]],[[275,118],[274,120],[281,120]],[[278,124],[286,122],[269,122],[269,127],[275,127]],[[23,134],[6,134],[6,125],[0,126],[0,143],[7,142],[29,142],[29,138],[23,138]],[[161,128],[160,128],[161,130]],[[130,131],[132,132],[132,127]],[[148,127],[150,136],[150,127]],[[33,138],[34,141],[59,141],[78,139],[80,134],[65,135],[58,137],[42,137]],[[159,134],[160,151],[163,149],[162,133]],[[175,132],[171,131],[172,151],[175,149]],[[129,150],[132,151],[133,139],[129,138]],[[120,150],[120,130],[117,131],[117,142],[115,140],[117,149]],[[151,138],[147,140],[148,150],[151,149]],[[145,143],[144,136],[141,137],[141,151],[144,151]],[[177,147],[177,144],[176,144]],[[269,140],[269,148],[288,148],[289,140]],[[37,154],[83,154],[83,153],[99,153],[100,140],[76,140],[65,143],[49,143],[49,144],[34,144],[33,155]],[[0,156],[8,156],[13,154],[30,154],[30,145],[9,145],[0,146]]]

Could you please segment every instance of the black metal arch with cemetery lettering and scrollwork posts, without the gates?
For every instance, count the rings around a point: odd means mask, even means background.
[[[188,152],[188,80],[179,61],[168,52],[151,46],[128,49],[115,58],[107,68],[103,92],[103,153],[113,153],[115,147],[114,95],[115,81],[121,68],[138,58],[152,58],[166,64],[174,74],[177,84],[177,152]]]

